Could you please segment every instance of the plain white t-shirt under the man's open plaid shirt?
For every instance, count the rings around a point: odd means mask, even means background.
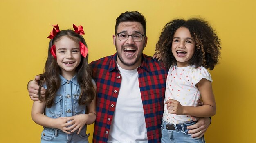
[[[118,69],[122,81],[108,143],[148,143],[137,69]]]

